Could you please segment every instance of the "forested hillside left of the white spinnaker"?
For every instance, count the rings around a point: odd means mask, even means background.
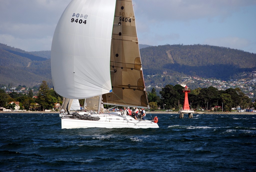
[[[43,80],[52,85],[50,59],[0,44],[0,84],[33,87]]]

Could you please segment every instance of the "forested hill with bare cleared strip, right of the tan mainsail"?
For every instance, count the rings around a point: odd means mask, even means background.
[[[184,73],[204,78],[231,79],[256,70],[256,54],[210,45],[161,45],[140,49],[145,74]]]

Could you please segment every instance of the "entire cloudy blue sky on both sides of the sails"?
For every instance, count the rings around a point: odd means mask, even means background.
[[[70,0],[0,0],[0,43],[51,50]],[[256,53],[256,0],[133,0],[139,44],[207,44]]]

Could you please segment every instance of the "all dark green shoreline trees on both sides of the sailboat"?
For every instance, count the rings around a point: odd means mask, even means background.
[[[160,91],[160,96],[157,96],[156,89],[147,92],[148,102],[151,110],[158,108],[172,109],[183,106],[184,103],[184,87],[181,85],[166,85]],[[62,103],[62,97],[59,96],[53,89],[49,89],[47,82],[42,81],[39,91],[36,94],[37,98],[33,99],[33,92],[29,90],[28,94],[20,94],[12,92],[6,94],[4,90],[0,90],[0,106],[12,109],[13,105],[8,105],[7,102],[18,101],[20,109],[32,109],[36,104],[39,104],[41,110],[52,109],[55,103]],[[224,111],[231,111],[232,107],[240,106],[242,109],[255,107],[251,99],[248,98],[239,88],[229,88],[227,90],[218,90],[214,87],[197,88],[188,93],[189,104],[191,109],[203,108],[210,110],[214,106],[222,106]],[[83,100],[80,100],[82,103]],[[83,103],[81,104],[83,105]]]

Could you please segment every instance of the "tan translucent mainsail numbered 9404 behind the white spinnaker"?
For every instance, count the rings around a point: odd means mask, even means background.
[[[147,107],[148,101],[131,0],[116,1],[110,56],[113,92],[102,95],[103,103]]]

